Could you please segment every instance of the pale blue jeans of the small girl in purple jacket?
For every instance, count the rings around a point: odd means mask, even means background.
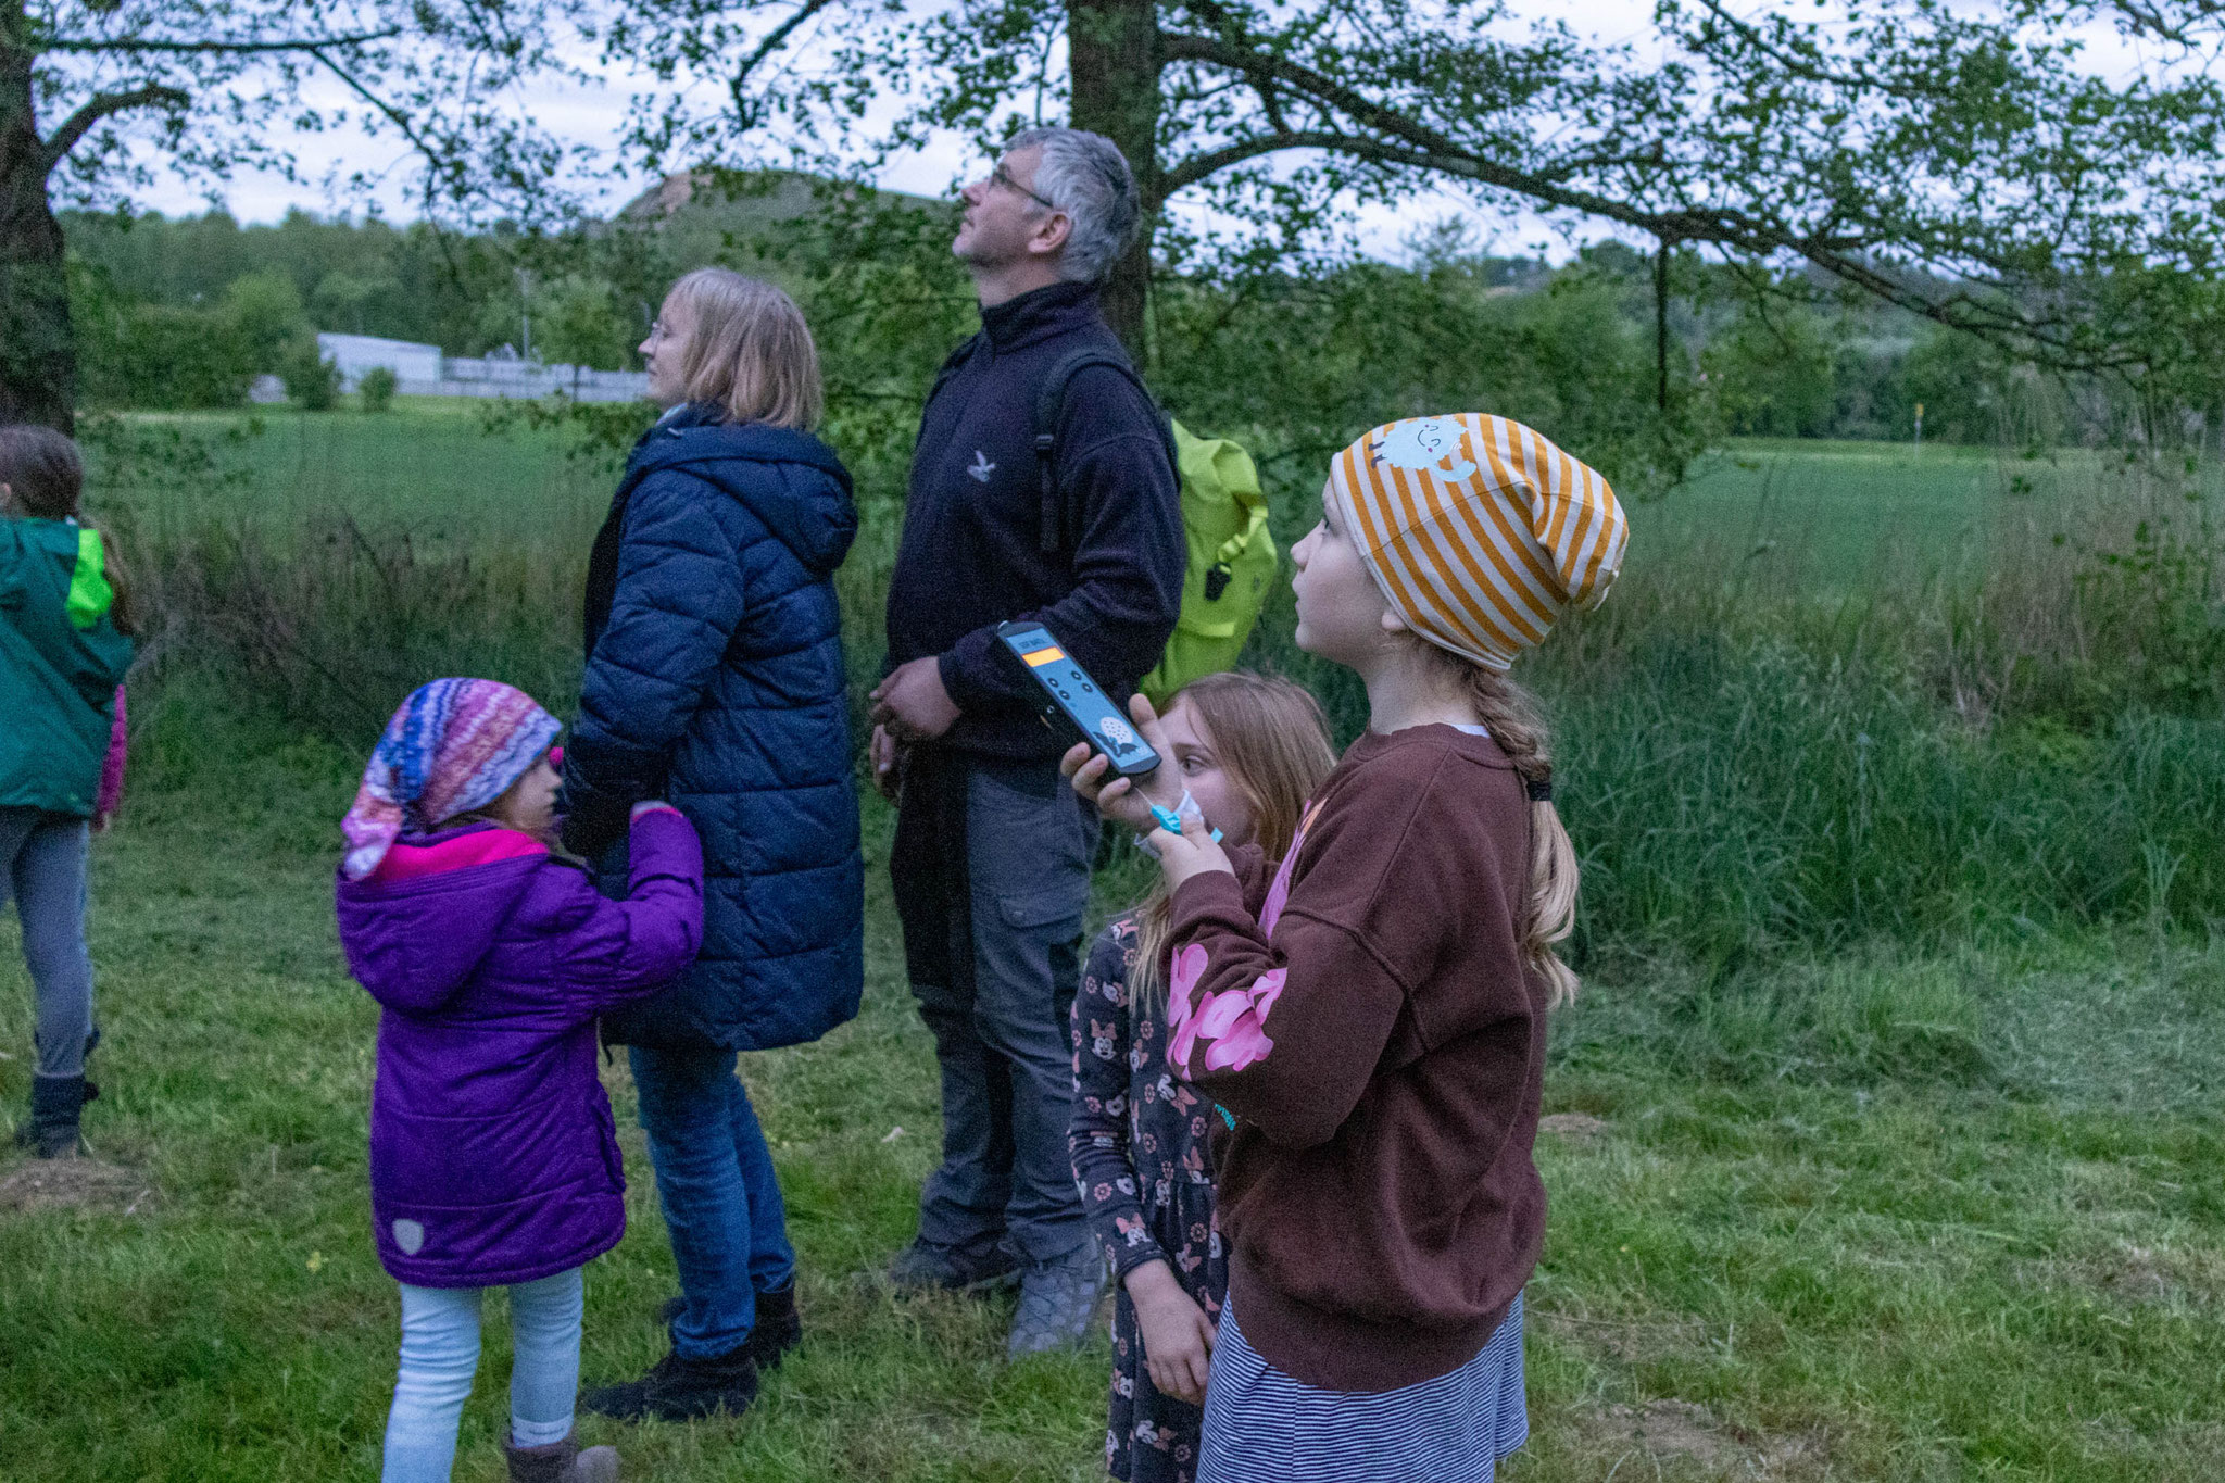
[[[403,1290],[403,1367],[387,1412],[380,1483],[447,1483],[456,1423],[478,1370],[478,1298],[485,1287]],[[545,1447],[572,1434],[578,1392],[581,1270],[510,1290],[510,1441]]]

